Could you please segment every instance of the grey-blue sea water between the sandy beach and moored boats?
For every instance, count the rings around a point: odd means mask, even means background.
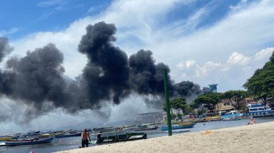
[[[274,121],[274,117],[262,117],[255,118],[257,123]],[[185,128],[179,130],[190,130],[186,133],[215,130],[220,128],[229,128],[234,126],[244,126],[250,119],[242,119],[239,121],[208,121],[197,123],[193,128]],[[166,125],[162,125],[166,126]],[[178,131],[178,130],[177,130]],[[157,130],[145,131],[148,133],[148,138],[156,138],[168,135],[166,131],[161,131],[160,126]],[[183,134],[183,133],[174,133],[174,135]],[[60,142],[60,140],[62,140]],[[90,144],[90,147],[93,147],[96,144]],[[59,152],[68,149],[77,149],[81,146],[81,137],[71,137],[71,138],[54,138],[52,142],[38,145],[23,145],[23,146],[4,146],[0,147],[0,152],[5,153],[29,153],[31,151],[37,153],[48,153],[48,152]]]

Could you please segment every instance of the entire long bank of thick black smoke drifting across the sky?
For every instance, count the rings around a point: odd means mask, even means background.
[[[23,58],[15,56],[7,60],[6,70],[0,72],[0,93],[34,108],[25,112],[25,119],[47,114],[53,107],[77,113],[100,109],[102,102],[119,105],[131,93],[155,97],[144,101],[161,108],[165,101],[163,69],[167,67],[169,73],[169,67],[162,62],[156,64],[151,51],[140,50],[128,58],[113,44],[117,31],[113,24],[98,22],[88,25],[86,30],[78,51],[87,56],[88,63],[76,80],[64,76],[64,55],[54,44],[48,44],[28,51]],[[10,51],[8,39],[0,38],[0,62]],[[169,77],[168,83],[171,98],[189,98],[203,92],[191,81],[174,84]],[[48,103],[50,107],[46,107]]]

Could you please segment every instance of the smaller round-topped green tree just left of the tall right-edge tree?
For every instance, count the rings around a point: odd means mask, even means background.
[[[249,97],[249,93],[247,91],[227,91],[225,93],[222,93],[220,98],[225,99],[228,98],[230,99],[231,105],[236,108],[237,110],[240,109],[239,102],[242,100],[245,100],[247,97]],[[232,102],[237,102],[236,105]]]

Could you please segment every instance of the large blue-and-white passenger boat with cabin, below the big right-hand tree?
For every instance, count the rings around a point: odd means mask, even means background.
[[[249,104],[246,106],[246,112],[242,114],[243,117],[268,117],[273,115],[273,110],[262,104]]]

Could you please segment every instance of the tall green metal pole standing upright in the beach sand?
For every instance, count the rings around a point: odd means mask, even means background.
[[[171,119],[170,119],[170,107],[169,107],[169,95],[168,95],[168,84],[167,84],[167,68],[164,68],[164,81],[165,81],[165,104],[167,108],[167,128],[168,128],[168,135],[172,135],[172,126],[171,126]]]

